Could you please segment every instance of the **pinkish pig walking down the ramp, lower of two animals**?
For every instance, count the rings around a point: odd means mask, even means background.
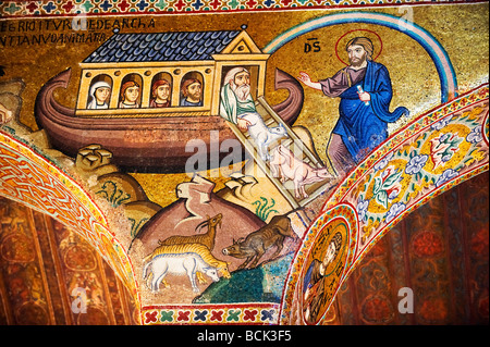
[[[311,168],[294,157],[293,151],[283,145],[274,148],[270,161],[270,170],[274,177],[281,177],[282,183],[286,178],[293,181],[296,199],[308,197],[305,190],[306,185],[334,178],[327,168]]]

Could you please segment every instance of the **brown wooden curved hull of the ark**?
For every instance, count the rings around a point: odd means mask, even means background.
[[[217,169],[229,154],[228,148],[222,149],[224,152],[219,150],[222,141],[236,138],[219,115],[77,117],[74,109],[59,104],[53,97],[57,88],[66,88],[70,77],[69,69],[51,78],[40,89],[35,104],[36,121],[48,134],[51,147],[69,157],[75,158],[79,149],[97,144],[111,151],[111,162],[124,171],[180,173],[185,172],[187,160],[197,152],[194,147],[186,152],[189,140],[206,144],[206,153],[201,151],[206,158],[199,160],[207,160],[207,169]],[[277,70],[275,89],[290,92],[286,100],[273,109],[291,125],[303,107],[303,87],[292,76]],[[209,160],[216,156],[219,160]]]

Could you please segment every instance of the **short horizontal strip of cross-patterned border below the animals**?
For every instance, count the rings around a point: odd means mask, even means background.
[[[279,303],[147,306],[143,325],[278,324]]]

